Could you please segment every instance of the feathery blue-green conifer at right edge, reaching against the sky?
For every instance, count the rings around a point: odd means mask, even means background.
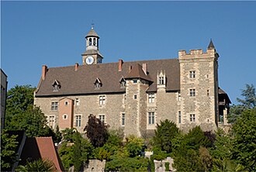
[[[237,101],[240,103],[238,105],[231,105],[230,114],[227,115],[229,123],[234,123],[237,121],[237,118],[240,117],[241,113],[247,109],[256,107],[256,95],[254,85],[246,84],[246,89],[242,90],[241,95],[244,99],[237,98]]]

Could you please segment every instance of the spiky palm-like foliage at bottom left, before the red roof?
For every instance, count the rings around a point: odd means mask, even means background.
[[[28,171],[49,171],[54,172],[57,168],[51,160],[34,160],[26,163],[26,166],[19,166],[16,171],[28,172]]]

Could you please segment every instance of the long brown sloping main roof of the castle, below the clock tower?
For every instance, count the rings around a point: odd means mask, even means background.
[[[142,64],[147,64],[148,75],[141,73],[144,72],[140,69]],[[130,66],[137,69],[139,75],[136,75],[135,71],[129,74]],[[45,79],[40,81],[36,97],[124,93],[126,89],[121,88],[119,83],[122,77],[141,77],[153,81],[147,91],[157,91],[157,71],[161,70],[165,70],[167,77],[166,91],[180,90],[178,59],[142,60],[123,62],[122,71],[118,70],[118,63],[81,65],[78,71],[74,71],[74,66],[48,68]],[[102,82],[102,87],[99,89],[95,89],[96,78]],[[55,80],[61,83],[59,91],[53,91],[52,83]]]

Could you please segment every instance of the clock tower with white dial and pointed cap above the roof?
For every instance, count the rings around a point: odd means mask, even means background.
[[[102,54],[99,53],[99,35],[93,29],[93,25],[87,36],[85,36],[85,41],[85,53],[81,54],[83,64],[101,64],[103,57]]]

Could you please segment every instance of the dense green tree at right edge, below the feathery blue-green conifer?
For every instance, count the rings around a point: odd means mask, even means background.
[[[233,159],[250,171],[256,170],[256,108],[242,112],[232,127]]]

